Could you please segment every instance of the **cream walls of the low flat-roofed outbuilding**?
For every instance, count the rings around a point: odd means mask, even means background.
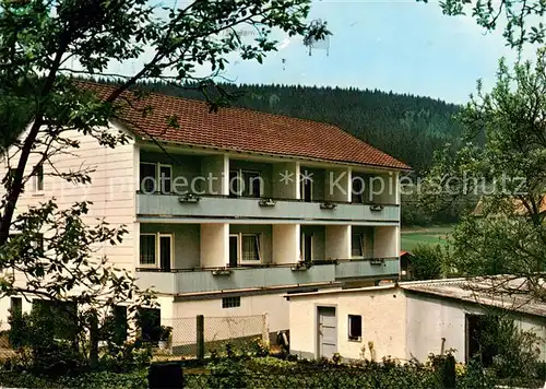
[[[377,359],[390,355],[425,362],[430,353],[455,350],[455,358],[466,358],[466,315],[486,314],[476,304],[435,297],[397,287],[370,287],[333,293],[289,296],[290,349],[302,357],[317,357],[317,309],[336,308],[337,352],[345,358],[370,358],[368,342],[373,342]],[[347,315],[363,316],[360,342],[347,338]],[[543,339],[541,359],[546,361],[546,322],[539,317],[514,316],[522,330]]]

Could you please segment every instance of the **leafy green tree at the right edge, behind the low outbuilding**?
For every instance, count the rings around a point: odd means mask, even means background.
[[[480,196],[452,234],[452,263],[468,276],[513,274],[525,282],[501,280],[496,292],[521,294],[532,285],[529,294],[538,300],[545,299],[545,117],[546,48],[513,69],[501,60],[492,90],[478,84],[460,114],[465,146],[438,154],[424,196],[432,209]]]

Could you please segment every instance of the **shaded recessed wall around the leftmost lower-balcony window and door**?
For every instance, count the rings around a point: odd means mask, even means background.
[[[175,269],[199,268],[200,264],[200,226],[199,224],[155,224],[141,223],[140,232],[173,234],[175,241]]]

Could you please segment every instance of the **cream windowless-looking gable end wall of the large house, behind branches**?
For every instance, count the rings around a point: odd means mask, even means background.
[[[109,129],[117,134],[120,128],[112,126]],[[52,177],[54,167],[49,163],[44,164],[44,190],[35,191],[33,188],[34,177],[25,185],[25,192],[19,199],[16,212],[21,213],[29,207],[37,207],[51,197],[60,209],[68,209],[75,202],[91,201],[90,213],[82,217],[88,225],[96,225],[96,219],[107,217],[110,227],[124,225],[128,234],[123,240],[116,245],[96,245],[97,257],[107,256],[109,261],[117,267],[132,271],[136,264],[133,247],[136,235],[135,226],[135,191],[138,179],[139,153],[135,151],[134,142],[131,140],[124,145],[116,149],[105,148],[90,137],[76,131],[68,131],[64,137],[78,141],[79,149],[70,149],[71,154],[58,154],[52,156],[51,163],[61,173],[80,172],[82,169],[94,170],[90,173],[92,184],[71,184],[59,177]],[[19,158],[12,160],[15,163]],[[38,163],[39,155],[29,156],[26,175],[29,175]],[[13,167],[13,166],[12,166]],[[4,161],[0,160],[0,177],[7,173]],[[0,179],[1,179],[0,178]],[[0,186],[0,196],[3,192]],[[17,213],[15,213],[16,216]]]

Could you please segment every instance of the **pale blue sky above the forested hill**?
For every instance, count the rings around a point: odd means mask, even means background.
[[[310,20],[317,19],[327,21],[332,33],[328,56],[323,49],[309,56],[300,37],[278,35],[278,51],[269,54],[263,64],[233,57],[223,78],[378,89],[461,104],[475,92],[478,79],[486,90],[494,85],[500,57],[515,59],[500,28],[486,33],[470,16],[446,16],[435,1],[313,0]],[[532,52],[527,48],[524,57]],[[135,67],[123,63],[112,70],[131,72]]]

